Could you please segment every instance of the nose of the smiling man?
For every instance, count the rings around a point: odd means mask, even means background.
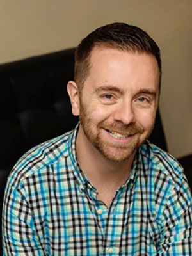
[[[136,117],[131,102],[120,102],[118,106],[116,106],[113,118],[116,122],[122,122],[125,125],[134,123]]]

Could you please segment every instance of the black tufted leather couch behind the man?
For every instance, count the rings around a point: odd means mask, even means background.
[[[76,125],[66,90],[73,73],[74,49],[0,65],[1,209],[6,178],[19,157]],[[167,150],[159,111],[150,140]],[[191,159],[187,156],[179,161],[192,187]]]

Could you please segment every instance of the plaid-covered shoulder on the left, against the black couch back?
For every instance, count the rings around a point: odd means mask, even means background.
[[[12,184],[13,187],[19,186],[20,182],[34,173],[40,172],[40,170],[54,164],[56,161],[60,161],[61,157],[67,156],[72,132],[67,132],[31,148],[15,164],[8,177],[8,183]]]

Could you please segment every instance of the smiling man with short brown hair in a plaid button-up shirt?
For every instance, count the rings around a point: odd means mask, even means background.
[[[159,48],[136,26],[96,29],[67,90],[74,131],[28,152],[6,186],[4,255],[192,255],[182,168],[152,145]]]

